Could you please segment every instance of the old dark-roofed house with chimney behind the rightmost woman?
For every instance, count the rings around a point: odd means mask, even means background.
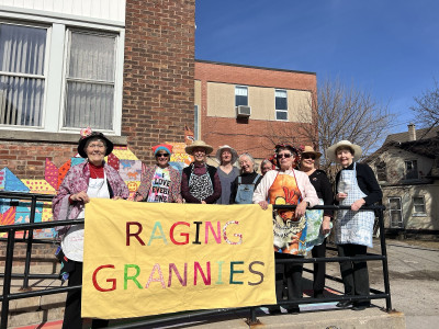
[[[387,229],[439,232],[439,127],[389,135],[364,162],[383,190]]]

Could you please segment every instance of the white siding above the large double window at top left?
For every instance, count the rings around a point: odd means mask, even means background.
[[[0,0],[0,10],[2,5],[20,13],[125,23],[125,0]]]

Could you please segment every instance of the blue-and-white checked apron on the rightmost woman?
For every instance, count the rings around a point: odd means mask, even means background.
[[[340,201],[340,205],[350,206],[357,200],[367,196],[358,185],[357,163],[353,163],[353,170],[341,170],[338,190],[348,194]],[[374,220],[375,214],[372,211],[337,211],[336,243],[353,243],[372,248]]]

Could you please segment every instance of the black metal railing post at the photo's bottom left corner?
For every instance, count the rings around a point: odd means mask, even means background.
[[[0,322],[1,329],[8,328],[9,295],[11,293],[14,242],[15,242],[15,230],[11,228],[8,230],[7,260],[4,262],[3,300],[1,300],[1,322]]]

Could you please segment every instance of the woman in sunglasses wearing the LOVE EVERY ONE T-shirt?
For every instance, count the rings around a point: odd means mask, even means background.
[[[182,203],[180,171],[169,164],[172,145],[159,144],[153,147],[153,151],[156,164],[145,169],[134,200]]]

